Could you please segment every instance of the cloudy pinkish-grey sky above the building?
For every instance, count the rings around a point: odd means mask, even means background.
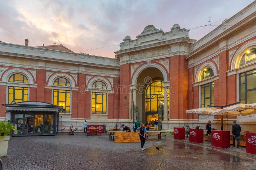
[[[164,32],[174,24],[200,39],[253,0],[0,0],[0,40],[29,46],[57,44],[91,55],[115,57],[118,44],[136,39],[147,25]],[[197,29],[198,26],[203,26]],[[106,47],[110,46],[110,47]],[[105,47],[105,48],[101,48]],[[95,49],[97,48],[97,49]],[[91,50],[93,49],[93,50]]]

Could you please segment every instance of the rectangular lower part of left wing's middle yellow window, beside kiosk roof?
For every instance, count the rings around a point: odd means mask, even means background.
[[[65,113],[70,113],[70,90],[53,90],[53,104],[62,106]]]

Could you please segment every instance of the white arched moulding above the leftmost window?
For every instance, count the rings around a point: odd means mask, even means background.
[[[32,75],[30,73],[28,73],[26,70],[23,70],[21,68],[12,68],[10,70],[7,70],[2,77],[2,81],[8,82],[9,78],[12,74],[23,74],[28,78],[28,84],[34,84]],[[21,83],[21,84],[23,84],[23,83]]]

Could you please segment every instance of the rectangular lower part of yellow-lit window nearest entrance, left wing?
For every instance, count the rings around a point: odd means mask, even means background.
[[[107,114],[107,93],[92,92],[92,114]]]

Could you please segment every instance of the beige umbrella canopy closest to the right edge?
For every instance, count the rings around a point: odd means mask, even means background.
[[[246,116],[254,113],[256,113],[256,103],[236,104],[223,109],[215,110],[212,112],[212,115]]]

